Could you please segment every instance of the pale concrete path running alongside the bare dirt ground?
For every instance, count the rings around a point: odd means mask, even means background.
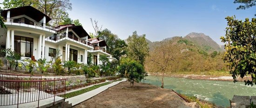
[[[102,91],[107,90],[109,87],[112,87],[112,86],[119,84],[120,82],[124,82],[126,80],[127,80],[126,78],[123,78],[121,81],[116,81],[111,84],[101,86],[95,90],[88,91],[84,94],[68,98],[65,100],[65,102],[68,101],[69,104],[72,103],[72,106],[75,106],[81,102],[88,100],[89,98],[91,98],[93,96],[96,96],[97,94],[101,93]]]

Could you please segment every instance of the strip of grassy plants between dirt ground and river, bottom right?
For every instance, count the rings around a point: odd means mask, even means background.
[[[188,102],[196,102],[200,108],[213,108],[215,105],[208,102],[201,102],[195,96],[186,96],[184,94],[179,93],[183,98],[187,99]]]

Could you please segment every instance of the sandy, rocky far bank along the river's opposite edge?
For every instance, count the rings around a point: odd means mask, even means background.
[[[162,74],[148,72],[148,75],[154,76],[162,76]],[[198,75],[198,74],[164,74],[165,77],[176,77],[176,78],[187,78],[187,79],[202,79],[202,80],[215,80],[215,81],[233,81],[233,77],[231,75]],[[251,77],[248,77],[251,80]],[[238,78],[238,81],[244,81],[246,78]],[[247,79],[246,79],[247,80]]]

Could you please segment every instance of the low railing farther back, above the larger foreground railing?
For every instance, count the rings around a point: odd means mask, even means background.
[[[0,73],[0,80],[42,80],[42,76]]]

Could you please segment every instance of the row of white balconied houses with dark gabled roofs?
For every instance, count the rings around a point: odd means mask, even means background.
[[[91,39],[82,26],[74,24],[48,27],[51,18],[32,6],[4,10],[1,16],[6,19],[7,29],[0,29],[0,48],[13,49],[21,59],[50,61],[59,49],[63,62],[74,60],[87,64],[88,54],[93,55],[94,65],[101,64],[100,55],[115,60],[106,52],[108,46],[104,40]]]

